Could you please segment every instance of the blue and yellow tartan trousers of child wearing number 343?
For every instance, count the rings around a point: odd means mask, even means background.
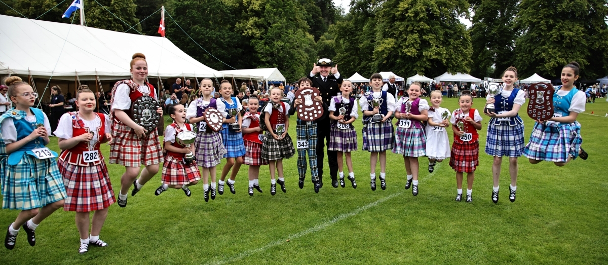
[[[298,149],[298,174],[306,177],[306,153],[308,153],[308,164],[310,165],[310,176],[313,182],[319,181],[319,165],[317,165],[317,123],[309,125],[295,125],[296,140],[308,140],[308,148]]]

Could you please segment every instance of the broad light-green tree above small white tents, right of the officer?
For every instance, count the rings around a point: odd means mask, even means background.
[[[387,0],[376,13],[376,69],[398,75],[469,72],[472,46],[458,19],[466,0]]]

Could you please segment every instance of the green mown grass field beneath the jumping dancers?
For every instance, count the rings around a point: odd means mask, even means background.
[[[483,102],[476,99],[474,108],[483,109]],[[457,102],[444,98],[442,106],[453,110]],[[592,111],[596,115],[588,115]],[[520,113],[528,139],[533,121],[523,109]],[[420,194],[413,197],[411,189],[404,190],[403,159],[393,153],[388,154],[387,189],[376,191],[369,186],[367,151],[353,153],[356,190],[348,181],[346,188],[331,187],[325,163],[319,194],[309,175],[304,189],[298,188],[297,157],[283,162],[287,193],[278,189],[275,196],[269,192],[268,167],[260,173],[264,193],[247,194],[243,165],[237,194],[227,191],[207,203],[202,185],[191,187],[190,198],[181,190],[154,196],[159,173],[137,196],[129,195],[126,208],[109,208],[101,233],[108,247],[78,255],[74,213],[58,210],[36,230],[35,247],[21,232],[15,249],[0,250],[0,264],[607,264],[605,98],[587,104],[586,113],[578,121],[589,159],[556,167],[520,158],[514,203],[508,200],[507,160],[500,201],[491,202],[492,157],[483,153],[488,122],[483,115],[471,204],[454,201],[455,173],[448,161],[429,173],[425,157],[420,158]],[[289,134],[295,140],[294,119]],[[362,125],[354,124],[361,149]],[[57,138],[49,147],[59,151]],[[102,150],[108,157],[109,146]],[[117,194],[123,168],[108,168]],[[0,210],[2,229],[17,214]]]

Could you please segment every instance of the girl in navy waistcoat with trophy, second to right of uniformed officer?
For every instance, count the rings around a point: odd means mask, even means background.
[[[359,105],[363,112],[363,150],[371,153],[370,177],[371,190],[376,190],[376,163],[380,157],[380,187],[386,189],[386,150],[393,148],[395,134],[390,116],[395,110],[395,97],[386,91],[382,91],[382,75],[375,73],[371,75],[371,92],[365,93],[359,99]],[[374,107],[373,101],[379,101],[380,105]],[[381,120],[373,121],[375,114],[381,115]]]

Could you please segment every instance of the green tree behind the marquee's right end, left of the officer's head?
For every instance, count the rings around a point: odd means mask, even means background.
[[[243,0],[237,30],[249,38],[257,67],[278,67],[285,78],[297,80],[313,67],[313,35],[296,0]]]

